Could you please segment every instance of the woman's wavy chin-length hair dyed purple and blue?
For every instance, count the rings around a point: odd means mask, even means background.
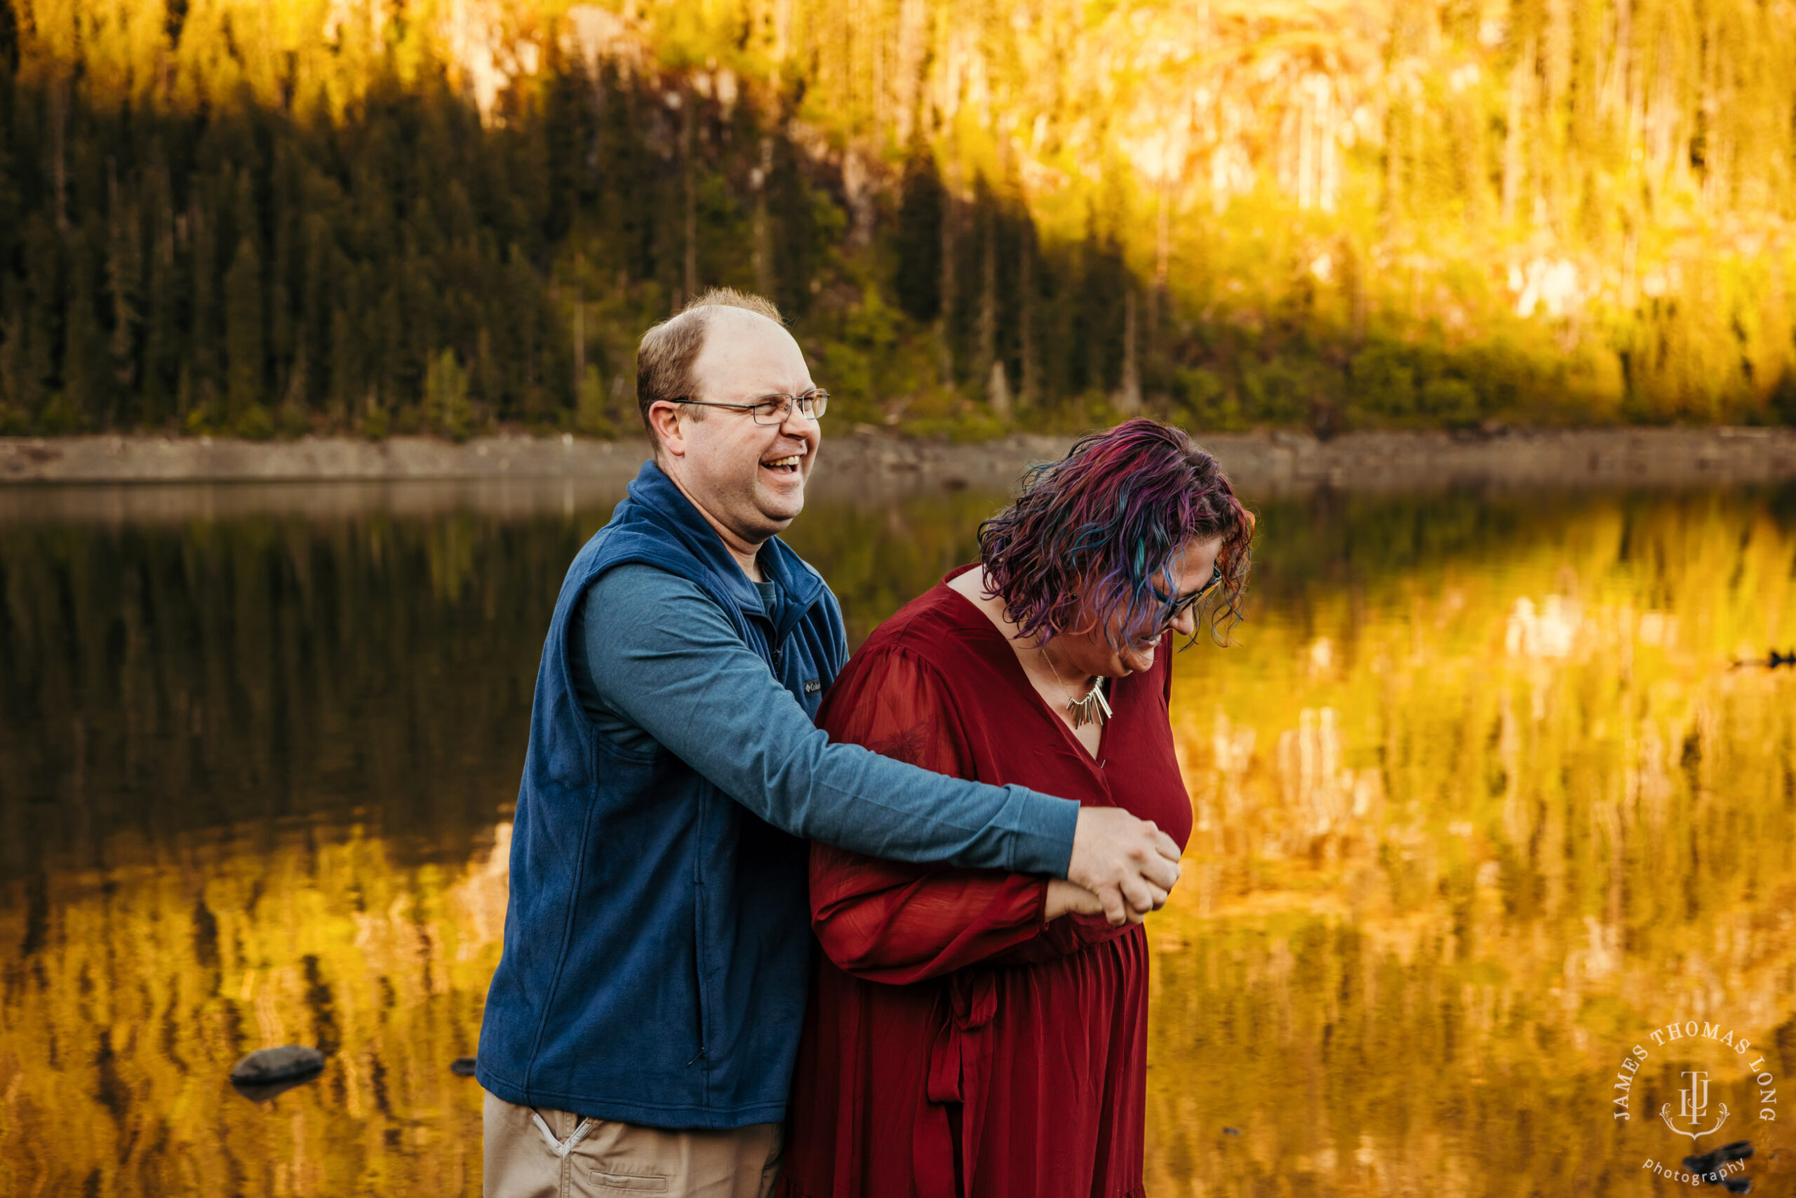
[[[1223,539],[1211,636],[1227,643],[1241,618],[1254,515],[1182,429],[1124,420],[1031,469],[1017,501],[979,526],[979,559],[1018,638],[1088,632],[1122,609],[1122,620],[1106,621],[1106,639],[1122,648],[1167,625],[1169,575],[1187,541],[1209,537]]]

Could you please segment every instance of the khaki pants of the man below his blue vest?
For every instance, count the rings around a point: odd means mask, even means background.
[[[487,1094],[485,1198],[767,1198],[781,1128],[668,1132],[532,1110]]]

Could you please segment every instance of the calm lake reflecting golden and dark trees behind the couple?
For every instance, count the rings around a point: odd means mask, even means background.
[[[0,490],[0,1193],[480,1193],[449,1063],[616,498]],[[790,541],[858,643],[1000,503]],[[1254,507],[1248,623],[1176,659],[1149,1193],[1649,1193],[1731,1141],[1789,1193],[1796,489]],[[287,1042],[323,1076],[232,1090]]]

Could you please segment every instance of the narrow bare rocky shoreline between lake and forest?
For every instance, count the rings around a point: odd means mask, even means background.
[[[1246,496],[1329,487],[1354,492],[1446,487],[1616,489],[1769,483],[1796,478],[1796,429],[1613,427],[1496,433],[1216,433],[1200,440]],[[824,440],[824,492],[1002,490],[1069,436],[1017,435],[952,445],[884,433]],[[489,436],[451,444],[307,436],[293,442],[167,436],[0,438],[0,485],[45,483],[390,483],[569,480],[621,489],[647,445],[575,436]]]

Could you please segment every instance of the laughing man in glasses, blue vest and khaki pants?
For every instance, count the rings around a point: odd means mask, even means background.
[[[537,674],[478,1056],[489,1196],[767,1193],[810,968],[801,837],[1065,876],[1114,923],[1178,878],[1122,810],[812,726],[848,643],[776,533],[828,397],[770,304],[713,291],[650,329],[636,395],[656,460],[569,568]]]

